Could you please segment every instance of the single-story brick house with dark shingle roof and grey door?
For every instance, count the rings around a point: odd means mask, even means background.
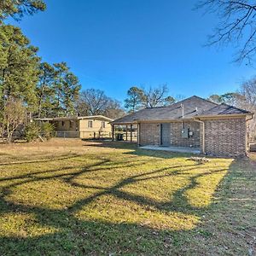
[[[114,125],[137,125],[140,146],[195,148],[202,154],[247,154],[247,121],[253,113],[191,96],[168,107],[145,108],[115,119]]]

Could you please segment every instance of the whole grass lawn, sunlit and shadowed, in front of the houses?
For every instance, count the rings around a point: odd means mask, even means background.
[[[254,255],[253,160],[54,139],[0,149],[0,255]]]

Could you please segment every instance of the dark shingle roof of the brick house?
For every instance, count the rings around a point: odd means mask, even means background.
[[[123,118],[115,119],[113,124],[128,124],[143,120],[177,120],[191,119],[196,116],[223,115],[223,114],[246,114],[246,110],[234,108],[225,104],[216,104],[202,99],[198,96],[191,96],[181,102],[167,107],[144,108],[135,113],[126,115]]]

